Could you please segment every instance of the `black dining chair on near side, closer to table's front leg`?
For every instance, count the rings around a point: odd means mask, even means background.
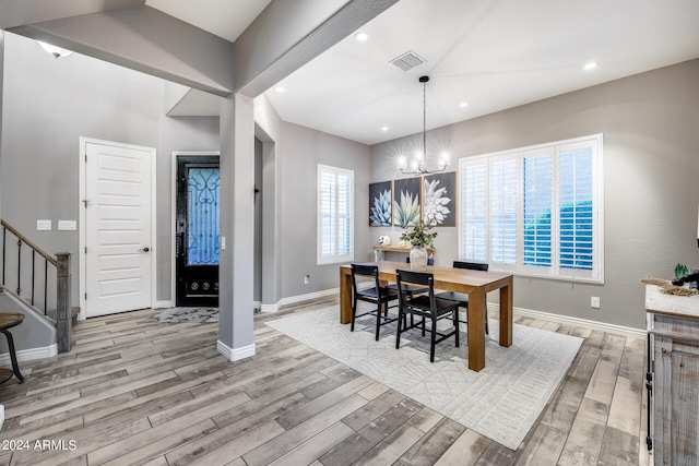
[[[439,299],[435,296],[435,278],[433,274],[425,272],[395,271],[398,280],[398,333],[395,335],[395,348],[401,347],[401,333],[420,326],[423,336],[425,336],[425,321],[430,321],[430,344],[429,344],[429,361],[435,362],[435,346],[445,339],[453,336],[455,346],[459,347],[459,303],[446,299]],[[407,285],[426,286],[427,294],[418,295],[412,298],[407,297],[404,288]],[[411,314],[411,325],[407,325],[405,316]],[[413,316],[420,320],[416,323]],[[437,322],[442,319],[451,319],[453,328],[443,333],[437,330]],[[439,336],[439,338],[437,338]]]

